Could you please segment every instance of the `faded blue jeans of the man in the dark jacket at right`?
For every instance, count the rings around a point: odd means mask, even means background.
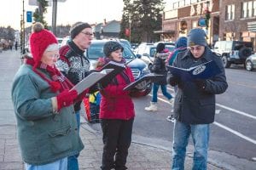
[[[207,149],[209,143],[209,124],[189,125],[176,121],[173,128],[172,170],[183,170],[186,147],[191,133],[194,143],[193,170],[207,169]]]

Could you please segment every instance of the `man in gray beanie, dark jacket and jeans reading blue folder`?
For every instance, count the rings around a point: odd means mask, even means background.
[[[218,75],[193,81],[183,81],[171,72],[167,75],[167,82],[178,87],[174,102],[176,122],[173,128],[172,169],[184,169],[190,134],[195,148],[192,169],[207,169],[210,123],[214,122],[215,116],[215,94],[223,94],[228,88],[222,60],[207,47],[206,37],[201,28],[190,30],[188,49],[177,54],[173,65],[188,69],[212,60],[221,70]]]

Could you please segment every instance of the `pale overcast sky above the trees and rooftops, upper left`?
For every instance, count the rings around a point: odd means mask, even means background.
[[[24,0],[25,11],[34,11],[36,7],[29,6],[28,2],[29,0]],[[123,7],[123,0],[66,0],[65,3],[57,5],[57,25],[72,25],[77,21],[94,24],[101,23],[104,19],[121,20]],[[48,8],[48,14],[45,15],[49,26],[51,8]],[[1,0],[0,26],[12,26],[20,30],[20,14],[22,14],[22,0]],[[30,25],[31,23],[26,23],[26,26]]]

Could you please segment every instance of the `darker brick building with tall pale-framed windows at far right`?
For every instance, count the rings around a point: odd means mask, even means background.
[[[256,0],[220,0],[220,40],[253,42],[256,47]]]

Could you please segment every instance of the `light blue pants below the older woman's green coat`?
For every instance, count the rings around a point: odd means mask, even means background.
[[[44,165],[30,165],[25,163],[26,170],[67,170],[67,157]]]

